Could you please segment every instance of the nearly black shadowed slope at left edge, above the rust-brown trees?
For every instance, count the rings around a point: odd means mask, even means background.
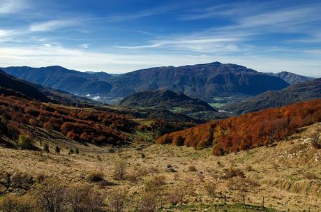
[[[8,75],[0,69],[0,94],[6,96],[17,96],[29,100],[41,102],[64,103],[66,105],[94,105],[95,103],[87,98],[74,96],[65,91],[47,89],[38,84],[26,82]]]

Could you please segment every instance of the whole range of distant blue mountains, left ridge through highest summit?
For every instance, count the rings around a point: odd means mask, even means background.
[[[281,90],[289,85],[276,76],[219,62],[147,68],[122,75],[80,73],[60,66],[9,67],[4,70],[29,82],[80,96],[98,95],[100,100],[124,98],[149,89],[168,89],[211,102],[217,96],[255,96],[264,91]]]

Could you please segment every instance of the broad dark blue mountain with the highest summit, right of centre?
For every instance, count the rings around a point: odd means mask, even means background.
[[[119,83],[119,87],[111,90],[112,96],[124,96],[128,92],[147,89],[169,89],[207,101],[216,96],[255,96],[288,86],[287,82],[278,77],[258,73],[244,66],[219,62],[136,70],[113,80]]]

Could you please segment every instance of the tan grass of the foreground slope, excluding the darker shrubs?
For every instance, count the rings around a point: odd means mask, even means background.
[[[274,147],[260,147],[223,157],[212,156],[211,149],[197,151],[186,146],[152,144],[144,148],[133,145],[116,149],[91,144],[84,146],[67,139],[43,139],[42,142],[50,143],[52,152],[54,146],[60,146],[61,154],[0,147],[0,173],[24,172],[31,176],[42,173],[47,178],[58,178],[66,183],[84,183],[85,176],[91,170],[101,170],[107,181],[117,185],[99,188],[95,184],[96,188],[105,194],[112,189],[126,188],[128,194],[135,198],[139,198],[139,194],[143,192],[144,182],[156,175],[165,176],[164,189],[167,193],[181,185],[192,188],[193,192],[184,199],[188,206],[174,209],[167,205],[167,211],[210,211],[209,205],[214,207],[222,203],[222,195],[227,196],[229,205],[218,211],[246,211],[244,206],[235,205],[242,202],[236,185],[244,184],[246,204],[260,205],[264,197],[265,206],[279,211],[308,211],[309,208],[311,211],[318,211],[321,205],[321,151],[313,149],[306,138],[313,128],[316,125]],[[80,154],[69,156],[68,149],[76,148],[80,150]],[[142,158],[142,153],[145,158]],[[128,175],[143,171],[145,174],[135,182],[114,181],[113,165],[120,158],[128,164]],[[177,172],[167,172],[169,164]],[[191,165],[197,172],[188,171]],[[223,179],[224,170],[231,166],[241,169],[246,175],[246,181],[239,177]],[[203,174],[200,174],[201,171]],[[314,173],[318,179],[308,179],[307,173]],[[204,191],[202,185],[205,183],[216,185],[215,197],[209,197]],[[0,184],[0,191],[5,189]],[[206,206],[198,206],[199,197]],[[135,198],[133,200],[137,202]],[[248,208],[247,211],[260,209]]]

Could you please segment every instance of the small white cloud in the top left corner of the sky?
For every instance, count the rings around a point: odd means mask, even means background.
[[[28,8],[27,0],[0,0],[0,14],[17,13]]]

